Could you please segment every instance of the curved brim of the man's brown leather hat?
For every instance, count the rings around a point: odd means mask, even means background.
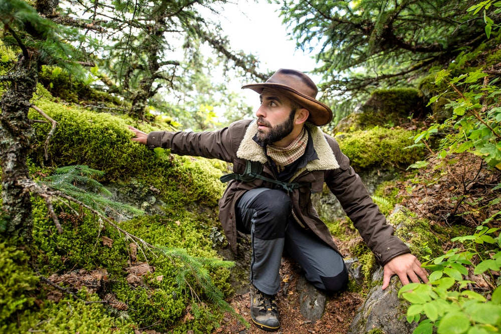
[[[325,104],[309,96],[301,94],[295,89],[287,85],[274,84],[274,83],[263,83],[263,84],[248,84],[242,86],[242,89],[252,89],[258,94],[263,93],[263,89],[279,89],[291,100],[299,103],[302,107],[310,112],[308,120],[317,126],[326,125],[332,121],[332,110]]]

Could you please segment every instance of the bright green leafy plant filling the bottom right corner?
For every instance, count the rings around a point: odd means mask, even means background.
[[[450,249],[423,265],[432,271],[429,284],[411,283],[399,290],[398,295],[411,303],[407,321],[419,322],[413,334],[433,333],[435,328],[438,334],[499,332],[501,287],[494,273],[498,275],[501,269],[501,240],[494,235],[499,228],[488,226],[496,215],[485,220],[472,235],[451,239],[463,243],[464,248]],[[468,279],[470,267],[473,275],[485,278],[486,292],[474,291],[475,282]],[[421,320],[422,316],[425,318]]]

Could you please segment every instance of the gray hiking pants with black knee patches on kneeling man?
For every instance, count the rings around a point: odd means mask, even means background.
[[[291,198],[282,190],[248,190],[236,205],[237,229],[250,234],[250,282],[267,294],[280,290],[284,251],[298,262],[306,279],[327,293],[342,290],[348,272],[342,256],[292,217]]]

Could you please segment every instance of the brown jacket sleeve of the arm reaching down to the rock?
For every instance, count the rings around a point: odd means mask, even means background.
[[[393,234],[393,227],[379,211],[360,176],[350,166],[336,140],[327,138],[340,168],[327,172],[326,184],[339,200],[347,216],[353,221],[367,246],[372,250],[381,265],[392,258],[410,253],[409,247]]]

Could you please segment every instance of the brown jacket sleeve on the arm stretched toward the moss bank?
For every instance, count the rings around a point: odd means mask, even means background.
[[[191,155],[232,162],[241,137],[240,131],[245,131],[248,123],[238,121],[217,131],[153,131],[148,134],[146,145],[149,148],[170,149],[171,153],[177,155]]]

